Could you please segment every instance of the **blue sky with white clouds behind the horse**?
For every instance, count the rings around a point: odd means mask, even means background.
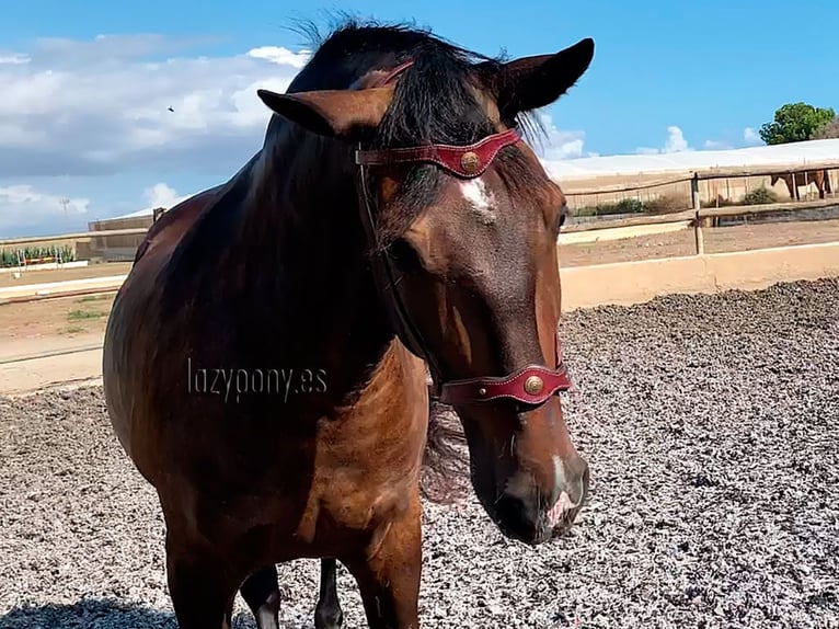
[[[227,181],[262,145],[256,90],[285,91],[308,58],[291,27],[327,28],[336,11],[510,58],[593,37],[588,71],[542,111],[545,159],[755,146],[784,103],[839,111],[826,0],[7,2],[0,238],[85,230]]]

